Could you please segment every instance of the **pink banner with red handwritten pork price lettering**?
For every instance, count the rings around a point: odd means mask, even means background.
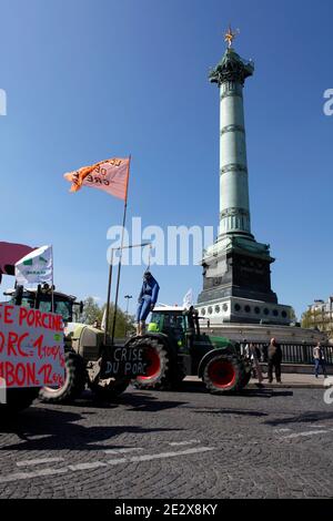
[[[60,315],[0,304],[0,379],[8,389],[64,384]]]

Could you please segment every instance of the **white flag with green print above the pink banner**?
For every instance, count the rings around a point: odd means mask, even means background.
[[[39,284],[53,285],[52,246],[42,246],[26,255],[16,264],[17,283],[27,288]]]

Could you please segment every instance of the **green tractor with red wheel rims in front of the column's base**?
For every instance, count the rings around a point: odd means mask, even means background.
[[[201,378],[210,392],[222,395],[240,391],[251,378],[251,365],[240,345],[202,334],[199,317],[193,331],[180,307],[155,307],[147,335],[132,341],[145,349],[149,360],[145,375],[135,379],[141,389],[174,388],[191,375]]]

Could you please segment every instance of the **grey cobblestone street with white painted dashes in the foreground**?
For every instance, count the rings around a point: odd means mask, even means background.
[[[323,389],[219,397],[130,388],[101,406],[36,402],[0,428],[1,498],[332,498]]]

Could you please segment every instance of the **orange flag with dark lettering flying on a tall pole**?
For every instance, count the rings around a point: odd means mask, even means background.
[[[128,196],[129,171],[129,157],[113,157],[91,166],[83,166],[63,176],[72,183],[70,192],[78,192],[82,186],[91,186],[125,201]]]

